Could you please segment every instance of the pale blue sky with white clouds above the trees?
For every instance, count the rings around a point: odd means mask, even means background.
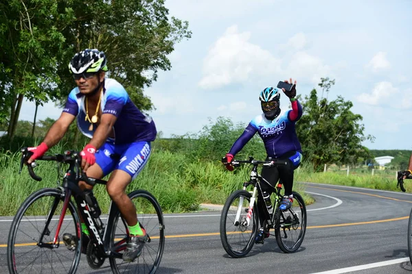
[[[329,98],[352,101],[363,116],[369,149],[412,149],[412,2],[167,0],[187,20],[190,40],[176,45],[171,71],[146,88],[163,136],[198,132],[218,116],[247,123],[260,114],[258,95],[297,79],[308,95],[321,77],[336,80]],[[110,60],[108,60],[110,64]],[[286,96],[281,107],[288,108]],[[34,103],[21,119],[32,120]],[[57,119],[48,103],[39,119]],[[297,125],[299,130],[299,124]]]

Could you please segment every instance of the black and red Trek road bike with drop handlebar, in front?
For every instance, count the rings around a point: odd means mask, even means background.
[[[41,181],[41,177],[33,171],[35,165],[27,164],[32,152],[27,148],[22,152],[20,171],[26,164],[30,176]],[[119,209],[112,201],[104,224],[97,200],[78,186],[80,181],[92,186],[106,184],[106,181],[84,174],[80,169],[82,158],[78,151],[47,155],[38,160],[57,162],[58,174],[61,164],[67,164],[68,168],[62,184],[58,181],[56,188],[42,188],[32,193],[14,216],[7,249],[10,273],[76,273],[83,242],[86,243],[79,216],[82,216],[90,234],[84,249],[92,269],[100,268],[107,258],[113,273],[156,272],[163,254],[165,225],[161,208],[153,195],[145,190],[128,194],[137,209],[141,227],[146,229],[148,240],[138,258],[133,262],[124,262],[122,254],[129,234]],[[71,249],[62,242],[66,233],[76,238],[77,245]]]

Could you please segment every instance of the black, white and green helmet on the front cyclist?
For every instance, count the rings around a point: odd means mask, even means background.
[[[108,71],[106,55],[98,49],[84,49],[74,55],[69,63],[69,69],[74,74]]]

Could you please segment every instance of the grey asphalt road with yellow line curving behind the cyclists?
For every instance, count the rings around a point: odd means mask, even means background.
[[[364,188],[308,184],[308,229],[296,253],[283,253],[275,237],[245,258],[222,248],[220,212],[165,214],[165,250],[157,273],[411,273],[407,245],[412,195]],[[0,273],[7,273],[11,217],[0,218]],[[93,271],[82,255],[78,273]]]

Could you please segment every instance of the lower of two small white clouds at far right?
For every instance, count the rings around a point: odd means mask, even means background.
[[[362,93],[356,100],[368,105],[382,105],[388,103],[388,99],[397,93],[398,88],[394,88],[390,82],[379,82],[371,93]]]

